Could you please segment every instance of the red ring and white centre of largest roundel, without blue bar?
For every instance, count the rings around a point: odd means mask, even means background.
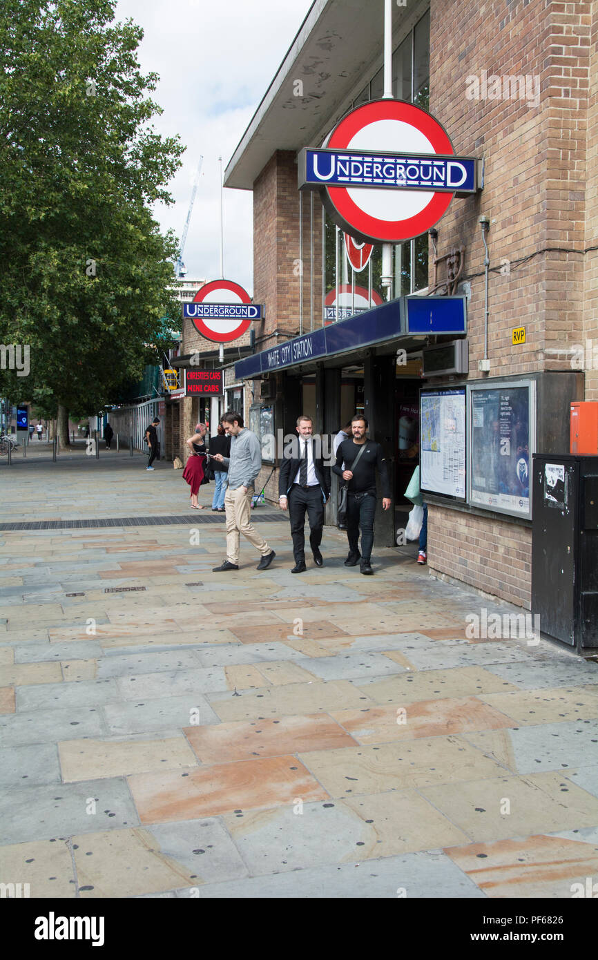
[[[429,157],[454,155],[438,120],[402,100],[374,100],[339,121],[324,146],[329,150],[367,151],[379,156],[405,153]],[[427,171],[426,171],[427,172]],[[401,243],[424,233],[441,219],[452,192],[373,186],[323,186],[323,203],[339,226],[371,243]]]

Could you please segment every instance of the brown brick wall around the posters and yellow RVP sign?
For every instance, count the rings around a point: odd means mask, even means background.
[[[598,336],[598,259],[585,253],[598,228],[597,24],[596,5],[587,0],[454,0],[450,15],[432,0],[430,110],[457,154],[486,162],[483,192],[454,200],[438,224],[439,253],[466,247],[471,379],[487,375],[477,369],[484,355],[482,214],[490,217],[490,377],[570,371],[575,345]],[[481,86],[482,71],[487,80],[530,76],[532,96],[467,99],[471,78]],[[522,325],[526,344],[513,346],[512,329]],[[586,372],[586,398],[598,399],[596,371]],[[531,530],[508,517],[431,505],[428,564],[529,607]]]

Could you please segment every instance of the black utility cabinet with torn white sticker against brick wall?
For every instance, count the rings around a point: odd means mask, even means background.
[[[532,612],[539,630],[598,648],[598,457],[535,454]]]

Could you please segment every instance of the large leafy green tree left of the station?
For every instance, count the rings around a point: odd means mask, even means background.
[[[180,324],[168,290],[178,254],[152,204],[172,203],[179,137],[155,132],[157,76],[116,0],[3,0],[0,10],[0,342],[30,346],[14,402],[68,411],[118,401]]]

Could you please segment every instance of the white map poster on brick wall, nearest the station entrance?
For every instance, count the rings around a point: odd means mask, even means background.
[[[420,488],[465,499],[466,389],[422,391]]]

